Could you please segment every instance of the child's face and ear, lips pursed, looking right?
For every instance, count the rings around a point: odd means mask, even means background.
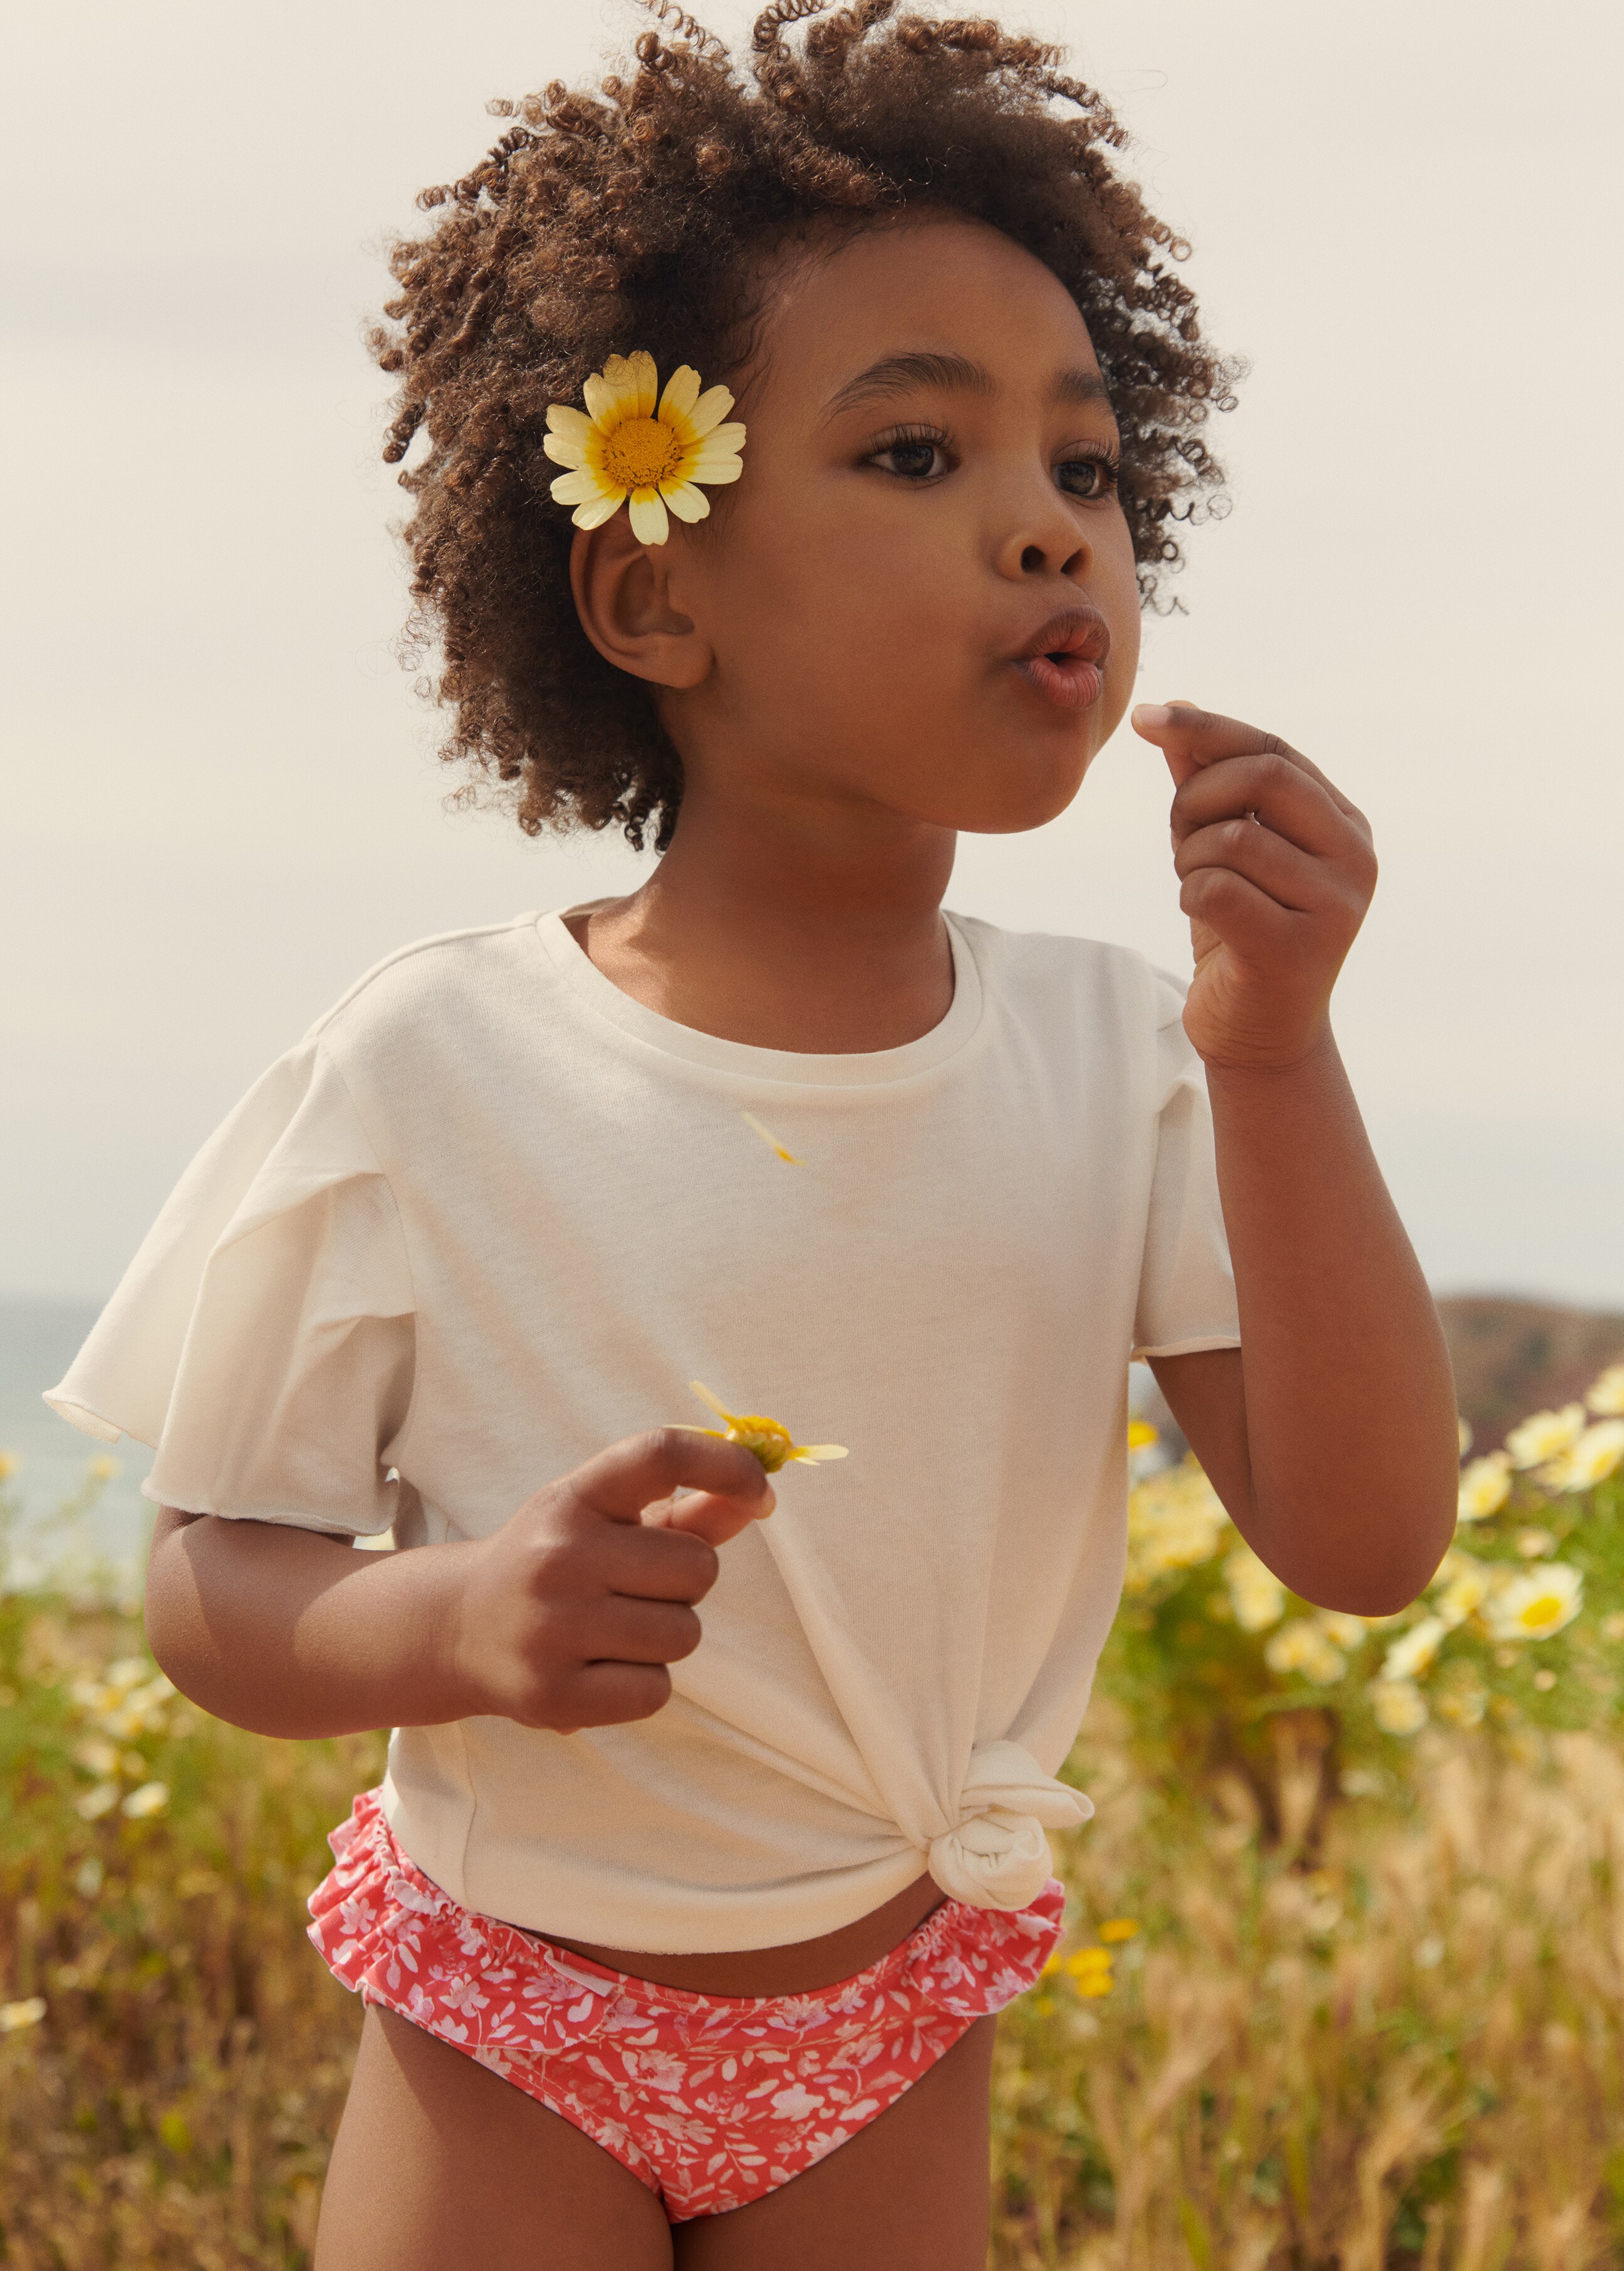
[[[1052,820],[1127,709],[1140,620],[1070,293],[929,216],[779,257],[768,307],[743,479],[661,547],[625,513],[597,531],[588,631],[661,684],[690,797]]]

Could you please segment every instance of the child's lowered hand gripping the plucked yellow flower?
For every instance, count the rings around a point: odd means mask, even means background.
[[[772,1506],[750,1451],[677,1426],[547,1483],[457,1549],[450,1646],[470,1710],[559,1735],[647,1719],[670,1696],[665,1667],[700,1646],[715,1549]]]

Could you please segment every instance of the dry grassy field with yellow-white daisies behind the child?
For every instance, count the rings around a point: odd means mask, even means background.
[[[999,2271],[1624,2262],[1597,1392],[1465,1469],[1460,1547],[1386,1628],[1295,1603],[1199,1474],[1136,1453],[1070,1769],[1099,1815],[1056,1840],[1063,1955],[1002,2023]],[[0,1601],[0,2262],[298,2271],[359,2028],[302,1903],[382,1740],[202,1717],[79,1587]]]

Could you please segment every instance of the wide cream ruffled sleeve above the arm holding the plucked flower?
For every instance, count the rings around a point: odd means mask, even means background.
[[[45,1401],[152,1444],[159,1506],[379,1535],[413,1344],[395,1199],[311,1040],[202,1147]]]

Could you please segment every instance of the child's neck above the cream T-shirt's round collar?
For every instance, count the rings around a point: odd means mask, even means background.
[[[954,833],[888,811],[684,799],[670,852],[570,929],[622,992],[759,1049],[897,1049],[954,995]]]

